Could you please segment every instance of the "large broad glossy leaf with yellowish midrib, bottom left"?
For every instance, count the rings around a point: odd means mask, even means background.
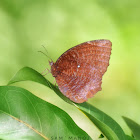
[[[0,87],[0,139],[91,139],[60,108],[14,87]]]

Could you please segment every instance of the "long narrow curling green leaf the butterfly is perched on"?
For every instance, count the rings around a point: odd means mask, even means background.
[[[100,130],[109,140],[126,140],[126,135],[124,134],[122,128],[119,124],[114,121],[111,117],[106,115],[104,112],[93,107],[88,103],[76,104],[66,98],[57,87],[53,86],[48,80],[46,80],[37,71],[25,67],[21,69],[9,82],[15,83],[19,81],[30,80],[43,84],[51,89],[53,89],[57,95],[59,95],[64,101],[75,105],[79,110],[81,110]]]

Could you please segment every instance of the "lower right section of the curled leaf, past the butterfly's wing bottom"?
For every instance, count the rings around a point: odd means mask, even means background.
[[[122,128],[110,116],[87,102],[75,105],[86,114],[109,140],[126,140]]]

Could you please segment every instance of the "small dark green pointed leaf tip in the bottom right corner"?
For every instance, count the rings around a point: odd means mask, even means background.
[[[128,127],[131,129],[134,138],[140,140],[140,125],[134,122],[133,120],[123,117]]]

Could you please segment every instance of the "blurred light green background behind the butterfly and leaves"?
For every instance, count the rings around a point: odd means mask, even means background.
[[[22,67],[50,68],[43,51],[56,61],[67,49],[90,40],[112,41],[110,66],[102,91],[88,102],[114,118],[129,134],[121,116],[140,124],[139,0],[0,0],[0,85]],[[51,82],[51,74],[46,76]],[[40,98],[70,114],[90,136],[100,132],[74,107],[46,87],[22,82]],[[82,122],[82,123],[81,123]]]

